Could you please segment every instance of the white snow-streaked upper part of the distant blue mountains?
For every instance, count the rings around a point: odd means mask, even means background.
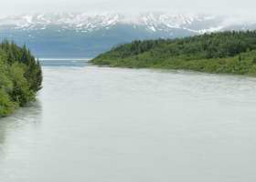
[[[141,15],[122,14],[52,14],[52,15],[15,15],[0,19],[0,26],[20,30],[46,29],[59,25],[61,29],[91,32],[114,25],[144,26],[148,31],[170,32],[181,28],[195,33],[217,31],[219,17],[203,15],[173,15],[147,13]],[[203,25],[202,25],[203,24]],[[204,27],[203,27],[204,26]]]

